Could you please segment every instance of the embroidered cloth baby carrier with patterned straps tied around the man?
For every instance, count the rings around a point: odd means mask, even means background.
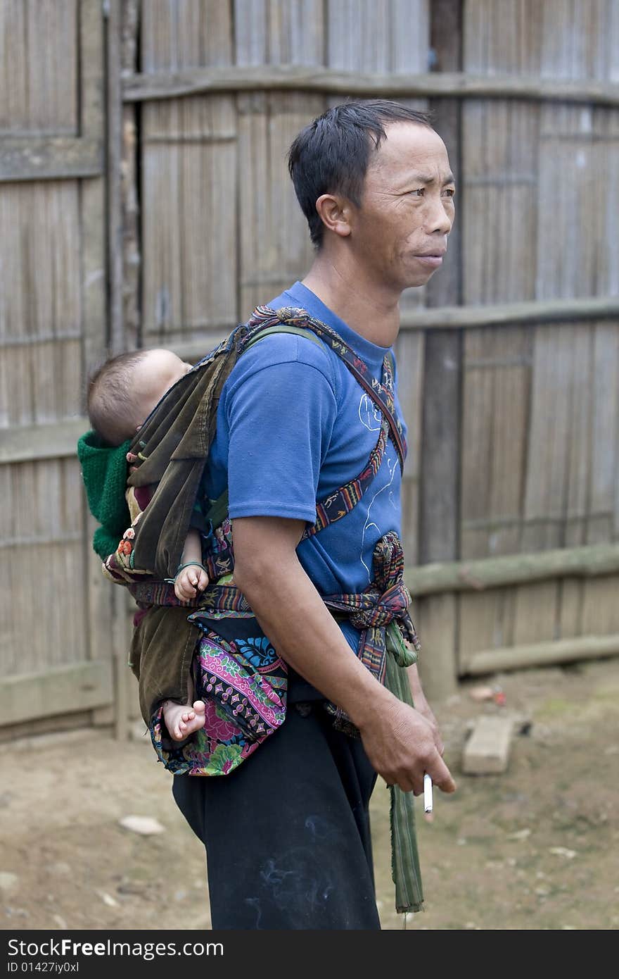
[[[128,463],[125,474],[130,526],[118,535],[115,548],[105,556],[104,571],[111,581],[128,588],[141,610],[131,651],[132,666],[141,683],[146,675],[153,677],[150,690],[147,683],[149,692],[144,693],[143,711],[150,718],[159,758],[175,773],[226,774],[285,719],[286,666],[259,629],[254,628],[252,634],[249,622],[255,626],[255,619],[251,609],[229,581],[234,571],[234,548],[226,493],[204,514],[201,529],[202,563],[208,570],[209,585],[191,602],[179,601],[173,587],[215,435],[223,386],[238,357],[272,333],[296,333],[333,350],[372,398],[382,419],[363,471],[328,498],[317,501],[316,522],[306,529],[303,539],[343,519],[359,502],[376,476],[389,437],[401,465],[406,455],[395,411],[390,354],[384,358],[378,381],[325,323],[302,309],[265,306],[258,306],[246,324],[237,327],[178,381],[131,443],[121,446],[119,451]],[[82,454],[84,450],[82,445]],[[419,642],[407,611],[411,596],[403,582],[403,570],[400,541],[389,533],[376,544],[374,581],[368,588],[359,594],[322,598],[332,614],[347,617],[359,629],[358,655],[364,665],[379,682],[386,681],[400,699],[410,702],[408,677],[400,668],[416,661]],[[217,620],[222,618],[245,620],[249,629],[244,630],[242,639],[224,639],[216,631]],[[156,669],[152,657],[155,647],[161,653]],[[153,710],[161,699],[160,669],[171,648],[180,658],[176,697],[185,696],[193,660],[196,696],[207,705],[204,729],[182,745],[164,741],[161,712]],[[337,727],[352,735],[358,733],[340,708],[326,706]],[[398,793],[395,796],[394,791]],[[399,790],[392,790],[392,807],[394,799],[395,805],[404,807],[402,817],[410,825],[412,801]],[[414,881],[406,893],[396,897],[400,909],[418,909],[422,900],[414,849]]]

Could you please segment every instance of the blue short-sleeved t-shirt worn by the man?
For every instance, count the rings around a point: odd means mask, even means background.
[[[380,380],[388,349],[351,330],[300,282],[268,304],[300,306],[327,323]],[[396,409],[403,421],[397,396]],[[365,469],[380,424],[373,400],[330,348],[269,335],[243,353],[224,385],[207,494],[216,498],[228,483],[232,520],[289,517],[312,525],[316,501]],[[376,541],[387,531],[400,534],[400,486],[389,439],[375,480],[354,509],[298,545],[298,559],[321,594],[363,591],[373,580]],[[356,651],[358,630],[347,623],[340,628]]]

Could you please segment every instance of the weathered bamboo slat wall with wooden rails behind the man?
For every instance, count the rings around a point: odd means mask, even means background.
[[[85,374],[199,356],[304,275],[287,148],[349,94],[432,109],[459,189],[397,342],[426,685],[619,653],[619,5],[0,0],[0,30],[3,720],[37,672],[43,716],[122,730]]]

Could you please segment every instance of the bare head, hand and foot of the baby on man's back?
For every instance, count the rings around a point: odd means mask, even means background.
[[[111,357],[88,383],[88,417],[95,432],[110,445],[132,439],[163,395],[192,369],[171,350],[134,350]],[[181,564],[174,579],[174,591],[181,601],[189,601],[208,584],[202,566],[199,532],[190,529]],[[170,737],[183,741],[204,726],[204,703],[196,700],[191,677],[187,703],[163,703],[163,719]]]

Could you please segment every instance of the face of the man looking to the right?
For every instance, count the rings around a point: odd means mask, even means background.
[[[440,136],[393,122],[371,157],[361,206],[352,207],[350,245],[360,272],[398,294],[422,286],[447,250],[454,177]]]

